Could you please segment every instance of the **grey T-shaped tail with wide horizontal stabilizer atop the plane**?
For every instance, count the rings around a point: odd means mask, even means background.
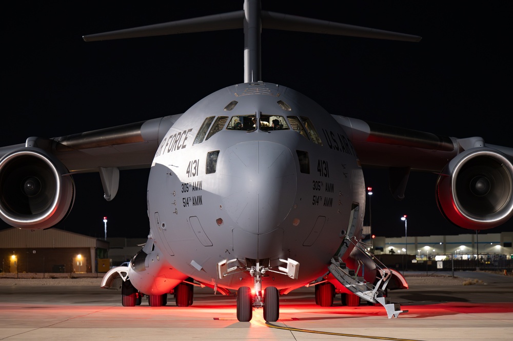
[[[157,35],[244,29],[244,83],[262,80],[262,29],[345,35],[353,37],[420,42],[418,35],[376,30],[325,20],[262,11],[261,0],[244,0],[244,10],[184,19],[169,23],[84,35],[86,42]]]

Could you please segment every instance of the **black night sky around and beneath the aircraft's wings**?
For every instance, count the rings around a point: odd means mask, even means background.
[[[328,112],[446,136],[511,143],[510,2],[262,1],[269,11],[416,34],[420,43],[265,30],[263,81],[288,86]],[[243,1],[9,2],[2,20],[0,146],[182,113],[243,82],[242,30],[85,43],[82,35],[241,10]],[[103,237],[148,234],[148,170],[121,174],[108,203],[98,174],[74,177],[76,200],[58,228]],[[386,170],[365,170],[373,233],[473,233],[446,222],[437,176],[410,175],[406,198]],[[365,224],[369,223],[368,213]],[[0,228],[6,228],[2,223]],[[513,221],[482,232],[513,231]]]

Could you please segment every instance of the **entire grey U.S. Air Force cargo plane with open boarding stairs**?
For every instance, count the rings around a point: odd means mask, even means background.
[[[360,298],[401,308],[387,290],[404,277],[374,263],[362,246],[362,167],[386,167],[404,196],[410,171],[439,173],[438,205],[452,223],[482,230],[513,214],[511,148],[480,137],[454,138],[332,115],[291,88],[261,76],[263,29],[419,42],[416,35],[244,9],[84,36],[85,41],[243,29],[244,82],[216,91],[182,114],[63,137],[29,137],[0,149],[0,216],[20,229],[48,229],[66,218],[72,174],[100,173],[115,197],[120,170],[150,168],[149,234],[128,266],[111,269],[102,287],[120,288],[122,304],[143,295],[150,306],[193,304],[194,286],[236,291],[240,321],[263,308],[279,318],[279,297],[314,286],[315,302]],[[222,33],[219,33],[222,34]],[[22,189],[21,191],[19,189]]]

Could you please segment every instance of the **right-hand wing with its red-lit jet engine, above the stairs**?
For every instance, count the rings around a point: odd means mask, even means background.
[[[438,206],[452,223],[488,229],[513,214],[513,148],[333,115],[346,131],[360,164],[389,169],[389,187],[404,198],[411,170],[439,174]]]

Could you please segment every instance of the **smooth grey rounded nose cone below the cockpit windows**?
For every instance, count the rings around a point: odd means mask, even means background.
[[[220,161],[223,210],[247,232],[274,230],[290,212],[297,191],[290,149],[273,142],[245,142],[228,148]]]

